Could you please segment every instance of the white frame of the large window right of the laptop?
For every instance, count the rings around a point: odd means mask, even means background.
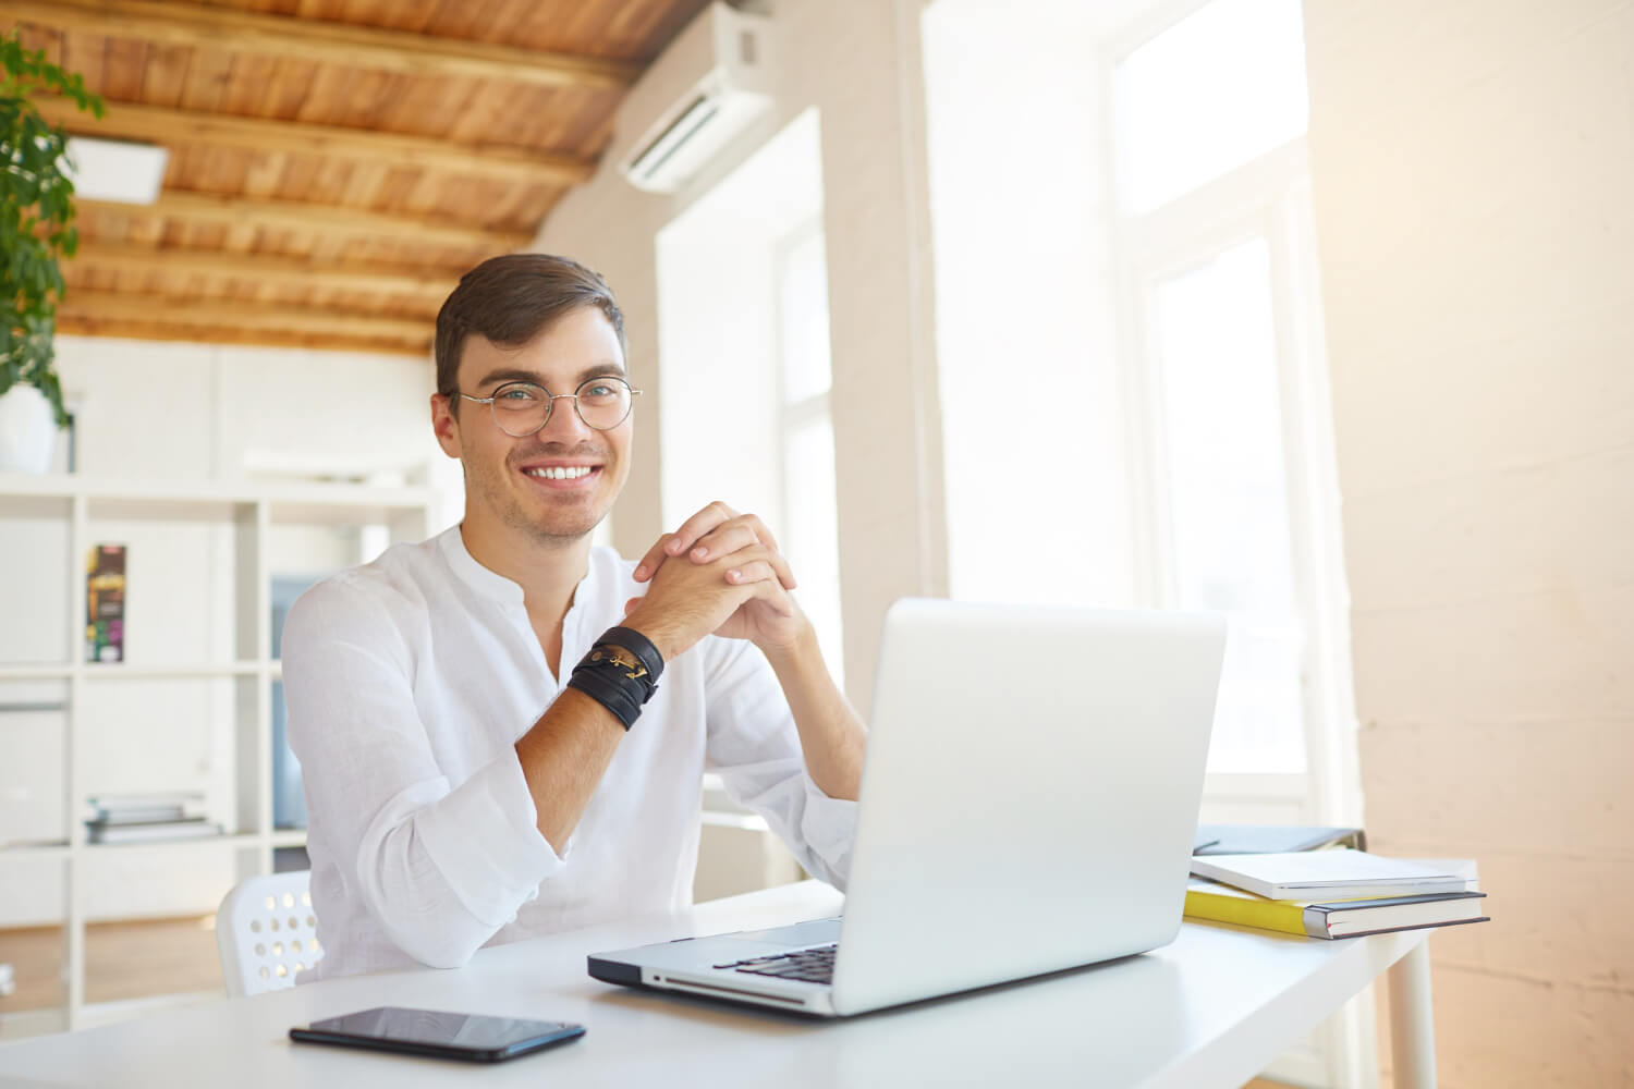
[[[1284,482],[1292,580],[1306,625],[1301,666],[1304,772],[1209,772],[1209,821],[1363,825],[1358,718],[1350,653],[1350,593],[1340,524],[1338,467],[1328,392],[1310,171],[1306,136],[1248,160],[1162,204],[1131,216],[1121,62],[1150,38],[1211,0],[1160,3],[1103,42],[1100,77],[1111,184],[1118,369],[1124,397],[1134,581],[1152,607],[1173,604],[1175,553],[1165,508],[1163,413],[1155,286],[1230,245],[1265,237],[1281,393]],[[1302,1084],[1377,1086],[1369,993],[1335,1014],[1306,1047],[1266,1071]]]

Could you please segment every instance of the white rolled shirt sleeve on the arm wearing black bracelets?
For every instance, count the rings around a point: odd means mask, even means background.
[[[289,611],[283,663],[309,821],[343,895],[415,960],[466,963],[564,865],[536,828],[516,753],[449,782],[415,707],[408,643],[343,580]]]

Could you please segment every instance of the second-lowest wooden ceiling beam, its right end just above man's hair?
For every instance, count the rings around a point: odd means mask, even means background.
[[[227,253],[222,250],[160,250],[157,247],[119,245],[95,238],[80,243],[69,261],[70,269],[96,268],[113,273],[145,276],[198,274],[211,279],[245,279],[322,291],[358,291],[382,296],[412,296],[428,304],[441,304],[459,282],[459,273],[425,274],[413,271],[346,268],[315,264],[301,258]]]

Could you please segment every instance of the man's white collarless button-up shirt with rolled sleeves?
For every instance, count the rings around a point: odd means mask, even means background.
[[[644,591],[611,549],[562,624],[562,673]],[[806,772],[765,656],[706,637],[665,663],[557,854],[513,745],[564,687],[516,583],[459,527],[328,578],[283,633],[289,745],[307,795],[324,960],[304,978],[422,962],[691,903],[701,777],[761,813],[807,870],[843,887],[856,803]]]

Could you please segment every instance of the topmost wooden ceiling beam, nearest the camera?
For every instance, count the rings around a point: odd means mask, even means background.
[[[508,80],[536,87],[623,88],[639,72],[639,65],[623,60],[163,0],[3,0],[3,21],[399,75]]]

